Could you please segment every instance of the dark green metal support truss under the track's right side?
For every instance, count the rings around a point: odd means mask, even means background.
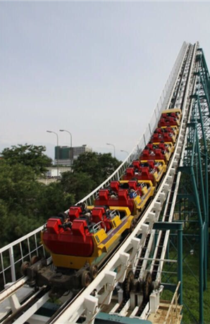
[[[187,124],[187,145],[178,194],[180,220],[185,223],[188,242],[199,237],[199,323],[204,323],[204,290],[207,282],[209,246],[210,77],[202,49],[198,49],[192,111]],[[197,241],[196,241],[197,242]],[[193,272],[193,271],[192,271]]]

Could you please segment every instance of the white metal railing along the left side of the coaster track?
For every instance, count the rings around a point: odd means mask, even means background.
[[[144,149],[147,142],[154,132],[154,129],[158,123],[158,120],[161,116],[161,111],[168,108],[168,102],[171,98],[173,88],[175,82],[178,78],[178,72],[180,70],[180,66],[183,62],[183,58],[185,56],[185,52],[187,49],[187,44],[184,42],[178,57],[175,61],[173,69],[168,77],[165,87],[163,88],[163,92],[160,96],[156,107],[154,108],[154,112],[152,113],[152,118],[149,121],[149,124],[144,131],[142,137],[137,142],[137,145],[130,152],[129,156],[121,163],[116,171],[108,177],[99,187],[94,189],[93,192],[87,195],[81,201],[85,201],[87,205],[92,205],[95,197],[97,196],[99,189],[109,186],[112,180],[119,180],[123,173],[125,173],[125,169],[128,168],[130,163],[137,159],[140,156],[141,151]],[[20,266],[23,261],[29,261],[33,255],[44,255],[44,248],[41,244],[39,244],[40,240],[40,232],[43,226],[37,228],[30,232],[29,234],[21,237],[15,242],[6,245],[0,249],[1,263],[0,263],[0,285],[6,285],[8,282],[15,282],[18,278],[20,278]]]

